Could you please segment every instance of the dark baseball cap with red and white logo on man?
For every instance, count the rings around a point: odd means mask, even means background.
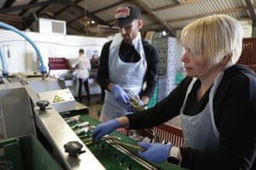
[[[141,20],[142,14],[136,6],[123,6],[116,9],[114,14],[115,24],[120,27],[130,26],[133,20]]]

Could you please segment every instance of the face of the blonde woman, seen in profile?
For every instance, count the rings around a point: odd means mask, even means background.
[[[211,71],[211,67],[206,63],[201,63],[196,55],[191,54],[191,50],[188,46],[184,45],[185,53],[183,54],[182,61],[186,69],[188,77],[207,77]],[[202,53],[203,58],[207,59],[206,53]]]

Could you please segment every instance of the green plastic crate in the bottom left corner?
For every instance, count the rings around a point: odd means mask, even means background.
[[[1,170],[61,170],[34,135],[0,141]]]

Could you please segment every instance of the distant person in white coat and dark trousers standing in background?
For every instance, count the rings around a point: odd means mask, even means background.
[[[79,49],[79,57],[76,59],[73,67],[77,69],[77,78],[79,79],[79,102],[82,103],[82,86],[84,85],[87,105],[90,105],[90,88],[88,82],[90,76],[90,59],[84,55],[84,49]]]

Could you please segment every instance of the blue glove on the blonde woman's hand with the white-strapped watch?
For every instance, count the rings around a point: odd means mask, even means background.
[[[166,161],[172,148],[172,144],[152,144],[148,142],[138,142],[137,144],[146,149],[146,151],[138,151],[138,155],[154,163]]]

